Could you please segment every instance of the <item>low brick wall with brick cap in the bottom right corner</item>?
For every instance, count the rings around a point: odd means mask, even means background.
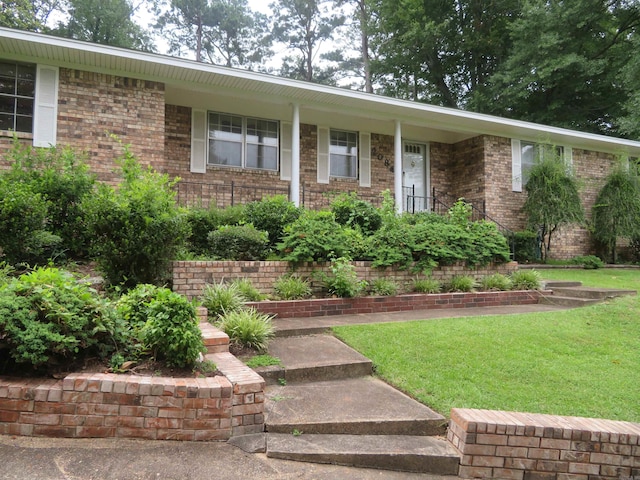
[[[640,424],[495,410],[451,410],[461,478],[640,478]]]

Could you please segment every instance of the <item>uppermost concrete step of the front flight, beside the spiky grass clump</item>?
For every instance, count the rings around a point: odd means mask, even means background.
[[[257,368],[268,384],[316,382],[371,375],[372,362],[331,335],[275,338],[269,355],[281,367]]]

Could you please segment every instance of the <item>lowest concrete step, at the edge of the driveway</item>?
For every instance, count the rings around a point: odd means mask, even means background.
[[[457,475],[460,464],[446,440],[407,435],[269,433],[267,457],[436,475]]]

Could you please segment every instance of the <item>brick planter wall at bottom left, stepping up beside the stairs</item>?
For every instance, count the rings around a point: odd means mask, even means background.
[[[264,379],[229,353],[226,334],[201,329],[223,375],[0,377],[0,434],[204,441],[264,431]]]

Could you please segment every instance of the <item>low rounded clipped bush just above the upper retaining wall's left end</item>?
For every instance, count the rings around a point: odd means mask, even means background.
[[[209,253],[220,260],[264,260],[269,250],[267,232],[253,225],[225,225],[209,233]]]

